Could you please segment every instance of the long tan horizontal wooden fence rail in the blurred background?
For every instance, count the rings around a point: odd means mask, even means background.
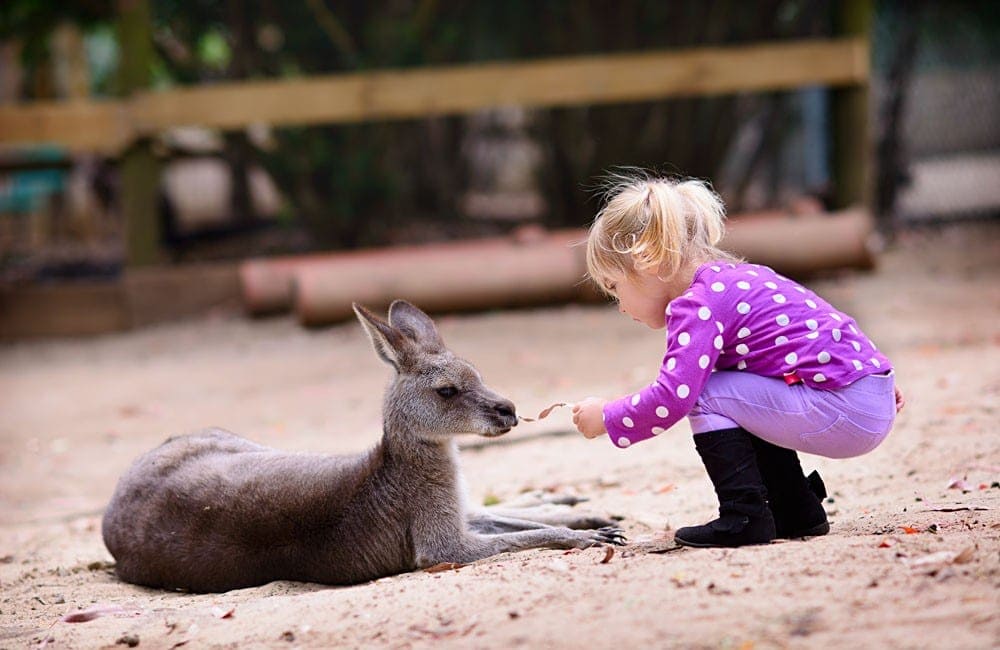
[[[200,125],[238,129],[412,119],[492,106],[554,107],[867,83],[861,37],[611,54],[523,63],[220,83],[122,101],[0,107],[0,144],[116,153],[137,137]]]

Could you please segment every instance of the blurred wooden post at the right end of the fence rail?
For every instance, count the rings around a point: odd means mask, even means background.
[[[839,35],[860,36],[871,43],[872,0],[834,3],[834,26]],[[870,49],[865,48],[870,60]],[[864,61],[869,65],[869,61]],[[862,205],[871,209],[872,146],[870,81],[833,91],[833,200],[837,209]]]

